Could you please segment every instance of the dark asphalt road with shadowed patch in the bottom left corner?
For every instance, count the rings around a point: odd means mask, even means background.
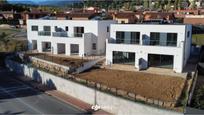
[[[85,112],[48,96],[0,68],[0,114],[83,114]]]

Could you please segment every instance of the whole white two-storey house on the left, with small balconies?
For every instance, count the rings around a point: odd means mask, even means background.
[[[29,49],[65,55],[105,54],[112,20],[28,20]]]

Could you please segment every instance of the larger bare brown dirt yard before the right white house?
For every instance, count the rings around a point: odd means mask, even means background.
[[[93,69],[77,77],[163,101],[175,101],[185,82],[179,77],[109,69]]]

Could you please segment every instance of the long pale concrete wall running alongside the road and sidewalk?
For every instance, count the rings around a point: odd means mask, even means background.
[[[129,101],[116,96],[106,94],[101,91],[94,90],[84,85],[65,80],[63,78],[54,76],[52,74],[28,67],[23,64],[14,63],[13,61],[6,61],[6,65],[10,70],[29,76],[33,79],[41,81],[43,84],[51,85],[57,90],[62,91],[68,95],[76,97],[89,104],[97,103],[102,109],[118,115],[182,115],[170,110],[156,108],[146,104]]]

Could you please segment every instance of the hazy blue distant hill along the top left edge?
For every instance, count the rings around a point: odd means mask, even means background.
[[[7,0],[10,4],[30,4],[44,6],[64,6],[72,3],[80,3],[82,0]]]

